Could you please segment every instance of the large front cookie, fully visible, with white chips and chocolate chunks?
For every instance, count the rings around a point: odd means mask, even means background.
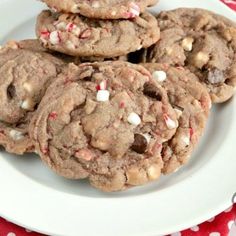
[[[178,126],[165,90],[142,66],[70,64],[50,85],[30,125],[42,160],[103,191],[158,179],[162,143]]]

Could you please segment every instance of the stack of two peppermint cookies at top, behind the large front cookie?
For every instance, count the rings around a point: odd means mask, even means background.
[[[83,61],[117,59],[160,38],[157,20],[145,11],[156,0],[44,2],[52,10],[38,16],[39,40],[45,48]]]

